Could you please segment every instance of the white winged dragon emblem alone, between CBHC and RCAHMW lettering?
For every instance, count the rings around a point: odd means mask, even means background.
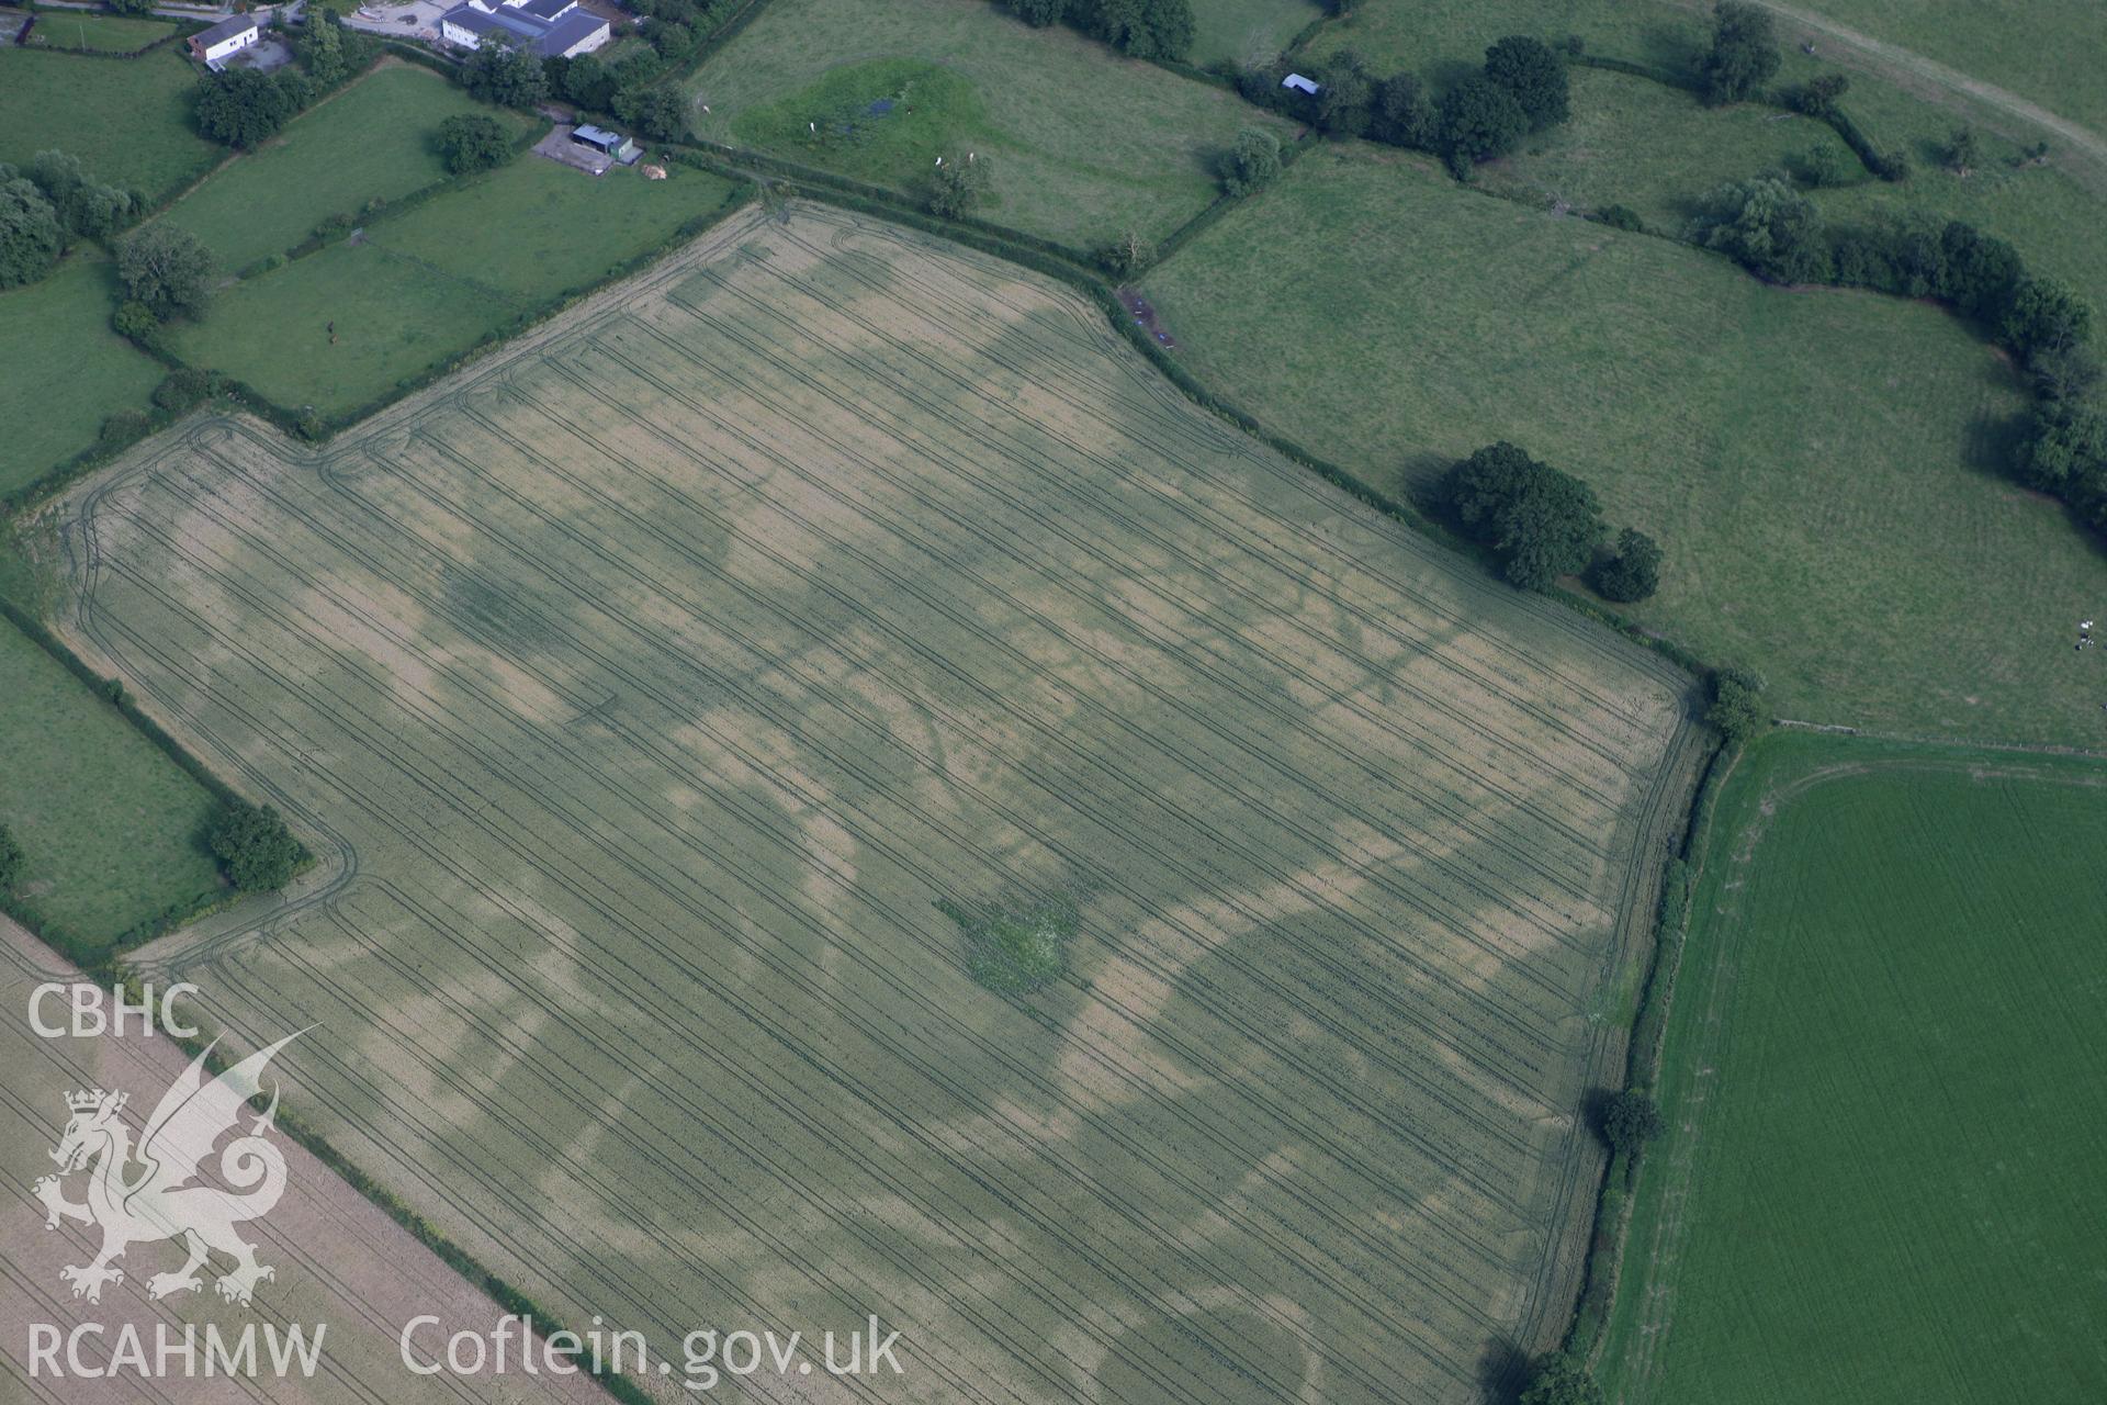
[[[101,1302],[105,1283],[124,1281],[114,1262],[131,1245],[160,1239],[181,1239],[185,1260],[175,1272],[147,1279],[150,1298],[204,1287],[198,1270],[215,1251],[234,1260],[234,1268],[213,1285],[228,1302],[249,1306],[257,1283],[276,1277],[276,1270],[257,1264],[255,1245],[242,1241],[234,1226],[268,1215],[284,1194],[284,1154],[265,1140],[278,1114],[278,1089],[272,1089],[270,1108],[253,1121],[249,1135],[219,1152],[215,1169],[221,1184],[200,1180],[198,1165],[225,1133],[238,1131],[242,1108],[261,1091],[263,1068],[295,1038],[299,1034],[287,1034],[217,1079],[204,1072],[206,1047],[162,1093],[137,1148],[120,1116],[129,1093],[86,1089],[65,1095],[72,1119],[51,1152],[59,1173],[40,1178],[34,1192],[44,1203],[44,1228],[78,1220],[103,1232],[95,1262],[59,1270],[74,1285],[74,1298]],[[65,1199],[65,1180],[80,1171],[88,1171],[86,1201],[74,1203]]]

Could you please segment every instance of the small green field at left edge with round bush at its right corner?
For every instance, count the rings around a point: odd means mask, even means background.
[[[221,891],[215,800],[107,699],[0,619],[0,824],[25,855],[17,906],[76,961]]]

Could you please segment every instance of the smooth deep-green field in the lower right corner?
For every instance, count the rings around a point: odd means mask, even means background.
[[[2107,767],[1774,735],[1705,853],[1612,1399],[2107,1397]]]

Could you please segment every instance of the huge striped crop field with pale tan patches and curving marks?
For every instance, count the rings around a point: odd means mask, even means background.
[[[1136,1405],[1477,1401],[1559,1329],[1681,676],[1070,293],[746,215],[65,541],[76,645],[329,855],[143,961],[318,1024],[329,1135],[560,1314]],[[1079,929],[1016,1001],[938,908],[1011,895]]]

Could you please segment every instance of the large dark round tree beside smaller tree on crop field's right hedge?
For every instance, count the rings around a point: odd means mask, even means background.
[[[1450,470],[1456,520],[1500,554],[1509,581],[1549,590],[1589,565],[1601,539],[1595,491],[1509,442],[1488,444]]]

